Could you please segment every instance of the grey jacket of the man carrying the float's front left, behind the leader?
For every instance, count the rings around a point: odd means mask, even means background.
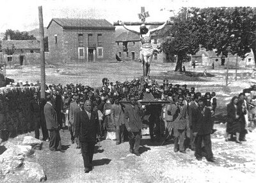
[[[143,109],[140,109],[137,105],[127,104],[125,105],[124,114],[125,127],[127,129],[131,128],[132,132],[139,132],[142,128]]]

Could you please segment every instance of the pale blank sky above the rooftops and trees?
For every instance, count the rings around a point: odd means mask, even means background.
[[[146,21],[165,21],[180,7],[256,6],[255,0],[1,0],[0,33],[6,29],[30,31],[39,28],[38,6],[42,6],[44,27],[52,18],[140,21],[141,6],[150,17]]]

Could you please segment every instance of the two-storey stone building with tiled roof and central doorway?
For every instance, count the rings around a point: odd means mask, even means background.
[[[51,62],[115,60],[115,26],[105,19],[52,19],[47,31]]]

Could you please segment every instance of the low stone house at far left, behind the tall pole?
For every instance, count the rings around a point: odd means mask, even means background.
[[[1,44],[2,62],[6,65],[28,65],[40,63],[40,41],[38,40],[3,40]]]

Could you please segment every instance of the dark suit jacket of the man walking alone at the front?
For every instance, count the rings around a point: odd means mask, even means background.
[[[99,116],[97,112],[92,111],[90,119],[86,111],[79,111],[76,114],[75,138],[79,136],[81,142],[95,142],[98,129]]]

